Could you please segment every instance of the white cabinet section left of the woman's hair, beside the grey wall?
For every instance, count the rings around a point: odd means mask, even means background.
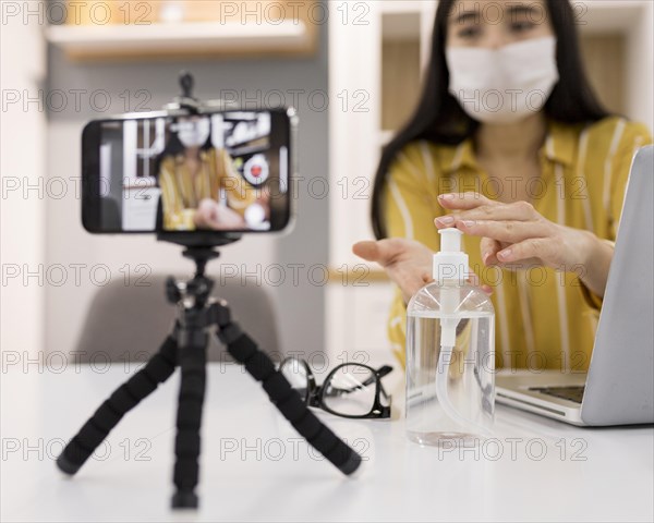
[[[436,9],[432,1],[348,2],[329,16],[330,267],[361,272],[352,244],[373,239],[371,196],[384,143],[413,109]],[[365,264],[367,266],[367,264]],[[393,285],[367,266],[367,287],[335,278],[326,291],[330,356],[391,362]]]

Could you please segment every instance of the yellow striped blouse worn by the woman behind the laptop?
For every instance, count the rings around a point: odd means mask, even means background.
[[[652,142],[647,129],[621,118],[591,125],[548,122],[540,151],[541,178],[528,187],[535,209],[557,223],[586,229],[615,241],[625,188],[635,150]],[[389,238],[439,248],[434,218],[446,214],[437,196],[475,191],[499,199],[500,187],[475,160],[472,141],[445,146],[408,144],[389,169],[384,194]],[[463,236],[471,268],[494,288],[498,367],[584,370],[593,348],[602,301],[574,272],[534,268],[509,271],[484,266],[480,239]],[[404,363],[407,308],[398,290],[388,333]]]

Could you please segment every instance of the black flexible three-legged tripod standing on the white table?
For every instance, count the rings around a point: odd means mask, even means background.
[[[230,243],[235,239],[222,239],[220,243]],[[214,251],[214,246],[194,245],[183,254],[195,262],[196,271],[187,282],[169,278],[166,283],[168,301],[177,303],[179,307],[173,332],[164,341],[159,352],[121,385],[84,424],[57,459],[59,469],[66,474],[75,474],[122,416],[166,381],[179,365],[182,379],[174,442],[173,482],[177,491],[172,497],[172,507],[197,508],[195,487],[198,478],[206,350],[208,331],[217,328],[216,335],[232,357],[262,382],[270,401],[298,433],[343,474],[352,474],[361,464],[361,457],[308,410],[300,394],[275,369],[271,360],[231,320],[227,302],[210,297],[214,281],[205,276],[205,266],[219,253]]]

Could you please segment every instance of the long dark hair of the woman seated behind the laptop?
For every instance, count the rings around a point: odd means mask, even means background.
[[[386,175],[396,155],[415,139],[445,145],[457,145],[469,138],[479,127],[457,99],[448,92],[449,72],[445,58],[447,22],[457,0],[440,0],[434,23],[432,54],[423,92],[409,122],[384,148],[373,187],[373,230],[377,239],[386,238],[382,203]],[[559,81],[545,104],[545,114],[564,123],[595,122],[609,115],[602,107],[585,76],[574,13],[568,0],[545,0],[547,14],[556,39],[556,60]]]

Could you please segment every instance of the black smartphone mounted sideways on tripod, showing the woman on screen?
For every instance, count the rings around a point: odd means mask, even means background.
[[[131,113],[82,133],[82,222],[93,233],[284,229],[293,109]]]

